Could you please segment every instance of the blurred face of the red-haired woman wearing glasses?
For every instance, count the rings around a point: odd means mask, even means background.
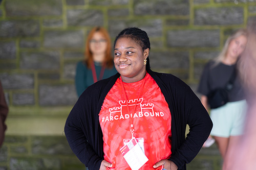
[[[89,43],[90,51],[93,55],[102,55],[106,52],[107,42],[100,32],[95,32]]]

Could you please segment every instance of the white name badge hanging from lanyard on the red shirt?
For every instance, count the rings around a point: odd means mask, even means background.
[[[142,139],[141,139],[142,140]],[[133,137],[131,140],[127,141],[127,139],[123,140],[125,144],[120,149],[120,152],[131,167],[132,170],[138,170],[143,166],[147,161],[148,158],[144,154],[141,146],[137,142],[136,138]],[[143,139],[143,149],[144,149],[144,139]]]

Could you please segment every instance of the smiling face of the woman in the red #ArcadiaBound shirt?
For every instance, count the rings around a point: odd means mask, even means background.
[[[142,51],[142,47],[133,39],[123,37],[116,41],[114,49],[114,64],[123,82],[137,82],[144,78],[146,66],[144,59],[150,50]]]

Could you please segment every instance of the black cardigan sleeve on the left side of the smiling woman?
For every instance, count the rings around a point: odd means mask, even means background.
[[[65,135],[77,158],[90,169],[96,170],[99,169],[103,158],[96,153],[89,142],[94,134],[94,127],[90,124],[92,122],[89,116],[90,106],[86,101],[81,96],[71,110],[66,120]]]

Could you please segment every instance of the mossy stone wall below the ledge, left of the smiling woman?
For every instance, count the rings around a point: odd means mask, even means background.
[[[0,169],[84,169],[65,136],[9,136],[0,150]]]

